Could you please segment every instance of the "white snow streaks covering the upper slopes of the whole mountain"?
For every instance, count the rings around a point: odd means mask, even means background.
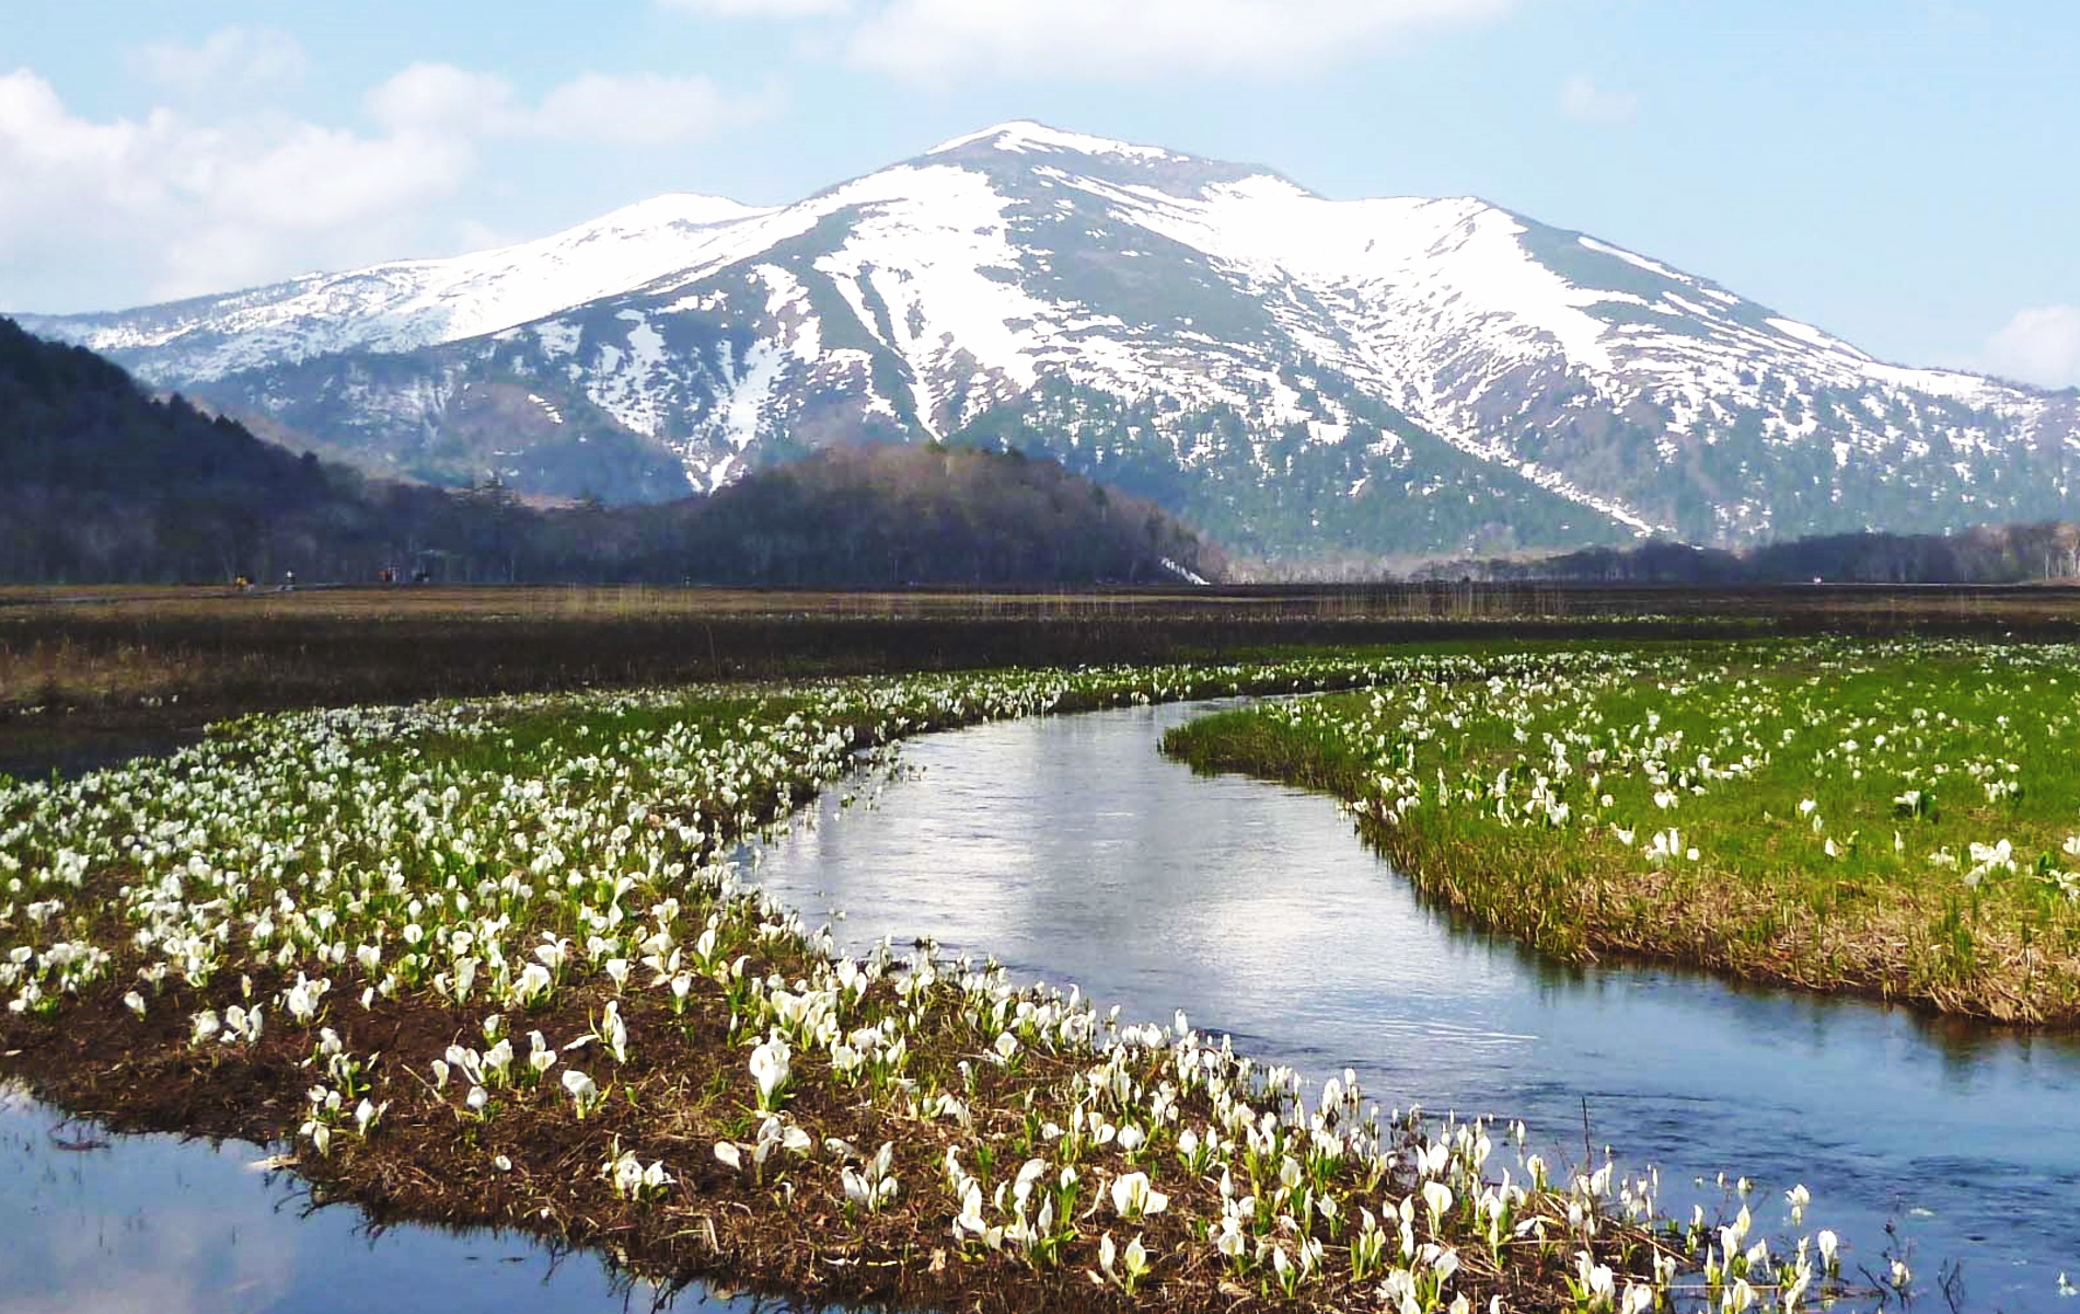
[[[978,141],[1017,156],[1017,179],[1007,168],[930,158]],[[1146,277],[1213,274],[1231,283],[1269,316],[1281,343],[1344,372],[1460,451],[1639,532],[1666,526],[1523,459],[1533,426],[1554,424],[1537,418],[1527,397],[1572,376],[1587,391],[1570,408],[1670,399],[1664,455],[1693,437],[1710,441],[1712,426],[1722,428],[1733,410],[1770,412],[1774,403],[1764,401],[1753,378],[1743,378],[1749,370],[1774,376],[1776,385],[1789,380],[1808,405],[1799,424],[1787,422],[1789,410],[1764,416],[1768,432],[1783,441],[1812,432],[1816,385],[1953,397],[2009,418],[2045,405],[1968,374],[1882,366],[1797,320],[1770,318],[1764,326],[1753,308],[1701,279],[1577,235],[1587,252],[1670,281],[1652,304],[1656,316],[1600,314],[1600,306],[1649,308],[1649,301],[1570,283],[1533,252],[1537,243],[1527,243],[1525,220],[1475,198],[1331,202],[1275,175],[1227,179],[1179,195],[1134,183],[1138,170],[1090,164],[1090,173],[1107,177],[1084,177],[1077,154],[1188,160],[1159,148],[1007,123],[795,206],[761,210],[718,198],[653,198],[518,247],[318,277],[289,285],[287,295],[239,293],[220,299],[214,314],[204,310],[175,324],[162,341],[168,353],[179,353],[187,333],[223,335],[227,341],[208,341],[175,362],[187,376],[208,378],[191,368],[193,360],[220,374],[356,345],[406,349],[480,333],[532,333],[574,380],[589,374],[582,391],[620,422],[639,432],[688,435],[682,455],[697,480],[701,470],[713,480],[728,478],[751,459],[761,428],[784,424],[776,408],[799,403],[799,387],[824,387],[840,374],[844,387],[836,391],[859,393],[865,414],[894,418],[894,403],[909,401],[930,435],[957,428],[1052,374],[1119,397],[1167,393],[1188,408],[1229,403],[1256,428],[1302,420],[1310,443],[1348,441],[1346,416],[1302,408],[1258,343],[1140,322],[1142,312],[1125,304],[1084,306],[1025,277],[1036,258],[1059,266],[1092,256],[1073,245],[1075,220],[1092,218],[1092,231],[1134,225],[1202,258],[1186,256],[1175,270],[1148,268],[1154,260],[1132,268]],[[1032,183],[1046,185],[1038,191],[1042,200],[1034,200]],[[1048,220],[1067,216],[1059,249],[1021,241],[1040,206]],[[1104,222],[1096,218],[1100,212]],[[830,216],[842,216],[842,229],[832,225],[842,235],[815,249],[813,272],[792,264],[799,249],[790,268],[776,264],[770,252],[778,243]],[[867,353],[828,345],[844,341],[844,326],[817,322],[801,279],[817,293],[828,279],[878,343],[876,353],[886,349],[907,366],[894,397],[878,393]],[[674,291],[682,293],[676,301]],[[634,316],[622,345],[580,351],[591,339],[572,322],[578,316],[553,318],[630,293],[641,295],[607,301],[605,310],[643,306],[655,326]],[[1109,310],[1125,310],[1136,322],[1121,322]],[[670,360],[657,328],[670,331],[674,314],[693,312],[740,314],[740,322],[755,324],[755,339],[743,349],[724,343],[720,368],[682,368]],[[1161,312],[1152,318],[1163,320]],[[158,326],[129,324],[133,333],[146,328]],[[1175,435],[1169,437],[1175,445]],[[1248,445],[1204,459],[1229,455],[1252,459]],[[1184,453],[1179,462],[1190,464]],[[1260,449],[1254,462],[1265,466]]]

